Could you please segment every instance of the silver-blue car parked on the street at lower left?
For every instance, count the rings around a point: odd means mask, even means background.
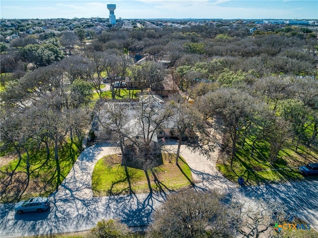
[[[50,207],[50,201],[47,197],[32,197],[29,200],[18,202],[14,206],[14,211],[18,214],[24,212],[43,212]]]

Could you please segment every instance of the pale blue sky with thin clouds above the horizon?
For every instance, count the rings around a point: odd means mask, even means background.
[[[318,19],[318,0],[0,0],[1,18]]]

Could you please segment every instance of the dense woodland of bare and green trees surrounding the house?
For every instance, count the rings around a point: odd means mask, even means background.
[[[231,167],[238,146],[271,165],[285,148],[299,153],[301,163],[317,160],[317,33],[266,24],[253,34],[248,29],[241,22],[207,23],[106,30],[88,44],[79,31],[1,42],[1,156],[16,159],[1,167],[1,195],[16,189],[16,182],[25,189],[30,180],[43,193],[44,167],[56,170],[53,187],[61,183],[68,173],[62,160],[70,169],[76,160],[70,155],[82,150],[105,78],[110,85],[129,79],[135,85],[127,89],[129,98],[136,89],[156,94],[173,85],[185,97],[166,99],[183,115],[180,137],[187,128],[206,131],[195,121],[221,130]],[[82,52],[65,54],[75,46]],[[135,64],[138,55],[147,62]],[[112,87],[113,99],[120,90]],[[40,154],[46,158],[41,162]]]

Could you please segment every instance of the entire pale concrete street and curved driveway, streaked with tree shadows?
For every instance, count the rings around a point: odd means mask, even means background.
[[[174,142],[168,143],[171,149],[176,148]],[[149,224],[152,212],[164,201],[165,194],[93,197],[91,174],[94,165],[103,156],[113,153],[116,153],[115,148],[106,144],[86,148],[59,189],[50,196],[49,211],[18,215],[14,213],[14,204],[0,204],[0,237],[84,231],[94,227],[99,220],[110,218],[119,218],[129,226]],[[192,170],[197,189],[219,188],[239,199],[268,197],[284,202],[292,213],[318,230],[318,181],[238,187],[215,169],[217,154],[218,150],[211,160],[207,160],[181,147],[181,155]]]

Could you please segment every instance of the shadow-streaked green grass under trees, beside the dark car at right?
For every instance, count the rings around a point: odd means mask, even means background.
[[[228,179],[237,182],[242,177],[247,185],[284,180],[301,180],[304,177],[298,172],[298,167],[311,162],[318,162],[317,154],[300,147],[298,153],[293,148],[284,148],[278,154],[278,159],[271,166],[268,163],[266,144],[258,143],[254,156],[251,156],[251,142],[246,140],[243,149],[237,146],[236,156],[230,168],[231,159],[221,155],[217,162],[218,170]],[[278,169],[278,170],[273,170]]]

